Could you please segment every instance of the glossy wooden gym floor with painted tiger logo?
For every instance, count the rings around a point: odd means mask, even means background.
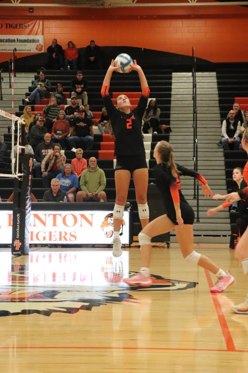
[[[235,283],[211,294],[215,276],[185,263],[177,244],[154,248],[151,288],[122,282],[140,251],[0,251],[2,373],[248,372],[248,315],[231,313],[247,294],[234,250],[195,244]]]

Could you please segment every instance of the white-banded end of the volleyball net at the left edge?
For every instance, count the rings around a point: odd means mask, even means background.
[[[19,135],[22,133],[22,144]],[[0,177],[22,178],[19,152],[25,153],[25,121],[0,109]]]

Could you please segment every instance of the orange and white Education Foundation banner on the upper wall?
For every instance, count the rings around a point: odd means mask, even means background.
[[[43,20],[0,18],[0,53],[14,48],[17,53],[44,52]]]

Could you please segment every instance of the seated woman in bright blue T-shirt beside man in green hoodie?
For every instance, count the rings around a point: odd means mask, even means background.
[[[57,178],[60,182],[60,189],[65,192],[70,202],[74,202],[78,189],[78,178],[74,174],[70,163],[65,164],[64,170],[57,175]]]

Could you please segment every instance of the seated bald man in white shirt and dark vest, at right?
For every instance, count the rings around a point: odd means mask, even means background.
[[[235,110],[230,110],[228,113],[228,118],[223,120],[222,123],[222,146],[225,150],[230,150],[229,145],[234,143],[234,150],[239,150],[240,144],[240,122],[236,118]]]

